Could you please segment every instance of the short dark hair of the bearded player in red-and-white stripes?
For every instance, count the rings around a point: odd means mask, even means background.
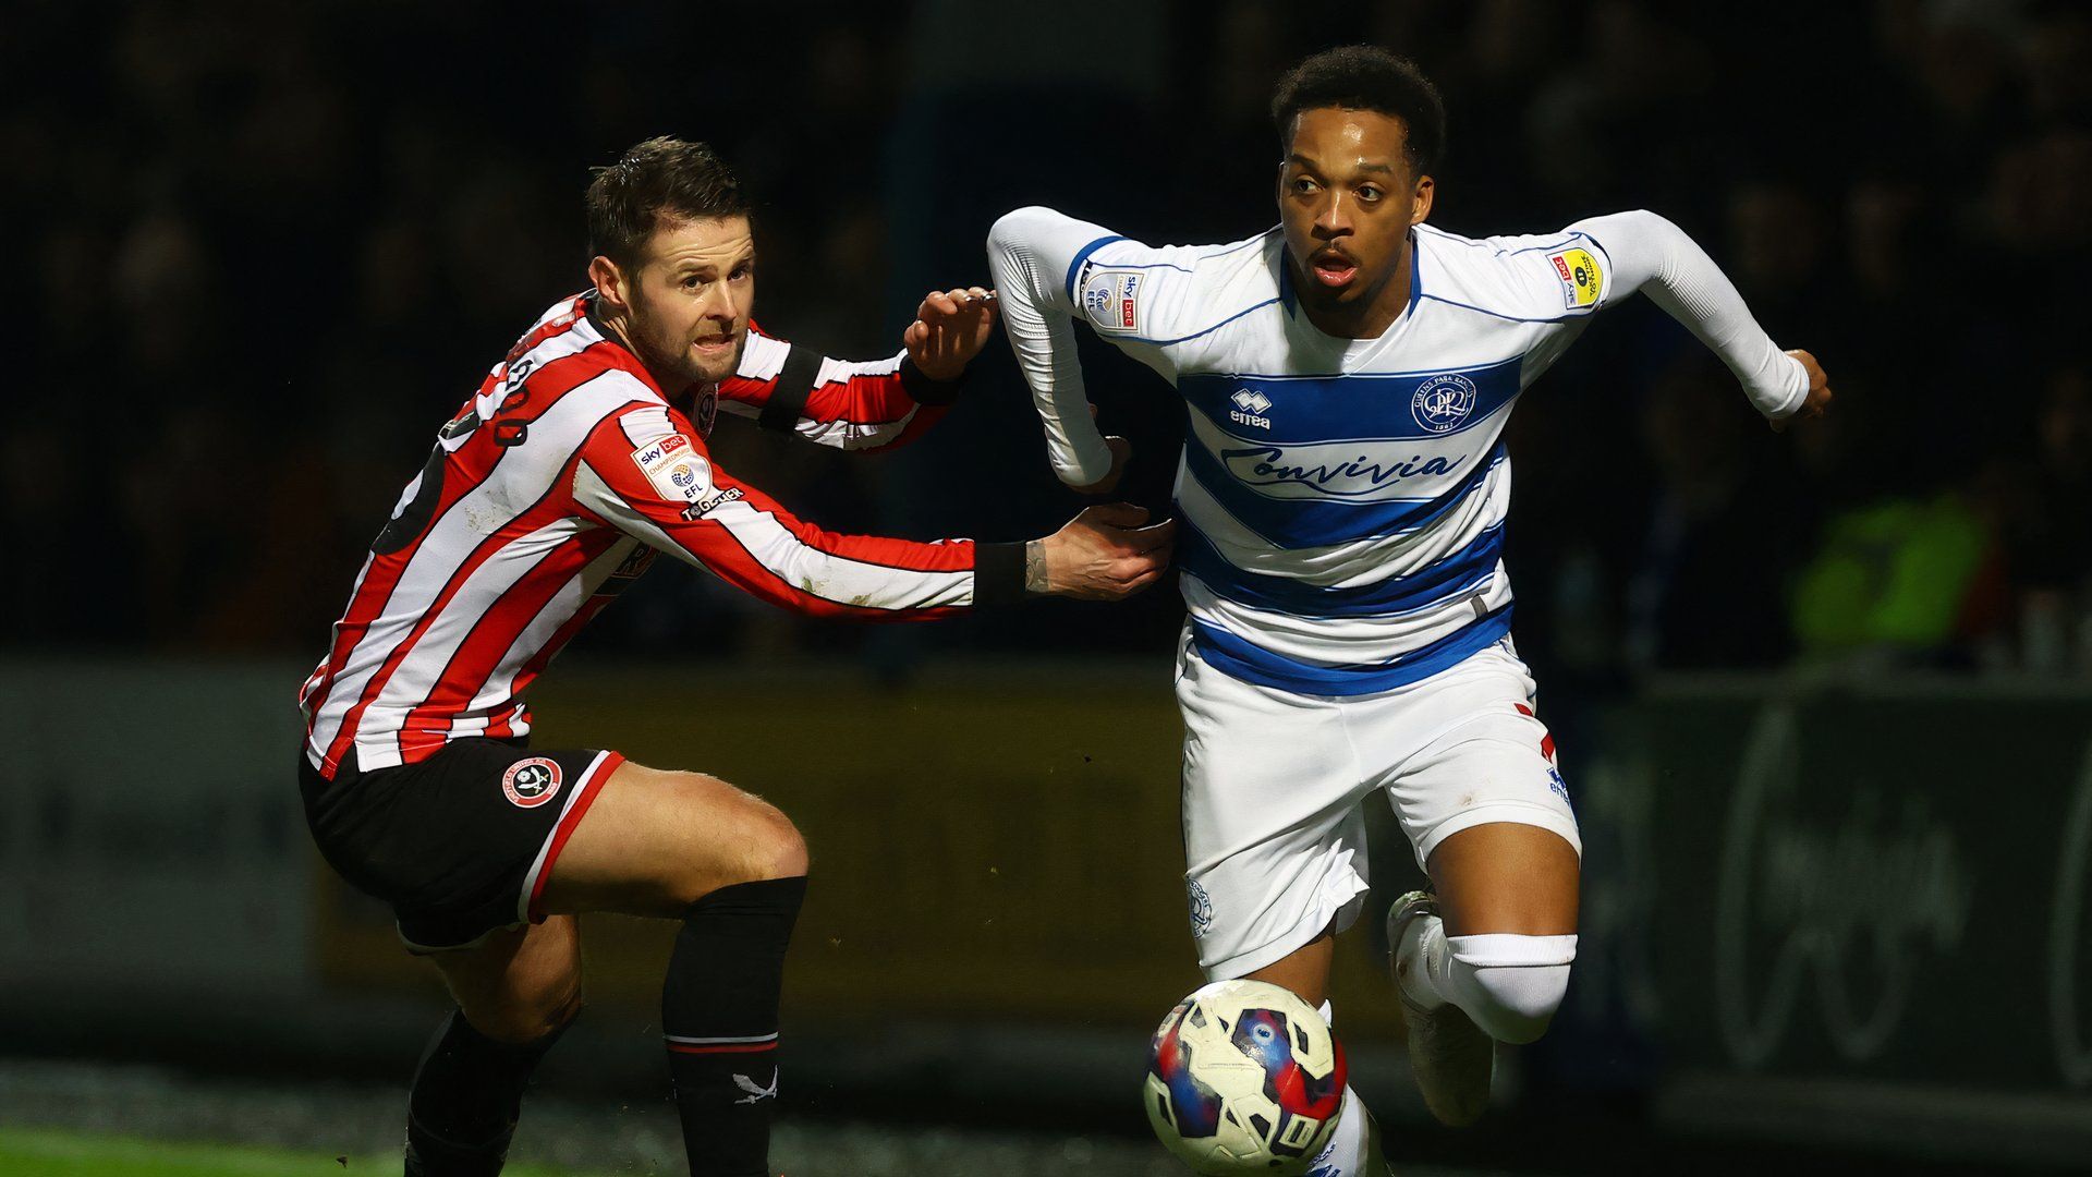
[[[617,163],[596,168],[588,184],[588,253],[619,266],[638,264],[655,224],[749,216],[741,178],[711,147],[672,136],[649,138]]]

